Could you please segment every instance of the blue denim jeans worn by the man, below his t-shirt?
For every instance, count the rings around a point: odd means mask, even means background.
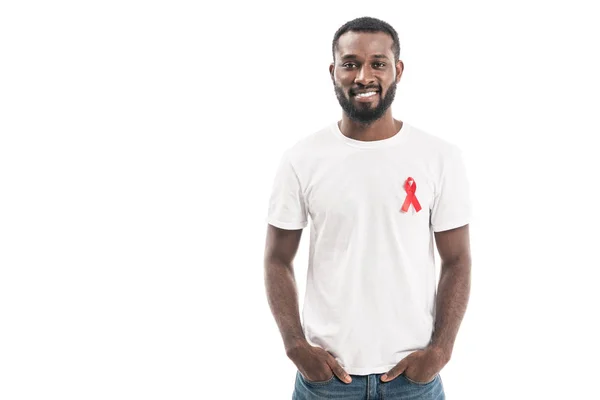
[[[296,373],[292,400],[445,400],[442,378],[437,374],[431,382],[417,383],[404,374],[389,382],[381,382],[381,375],[350,375],[352,382],[344,383],[337,376],[325,382],[310,382]]]

